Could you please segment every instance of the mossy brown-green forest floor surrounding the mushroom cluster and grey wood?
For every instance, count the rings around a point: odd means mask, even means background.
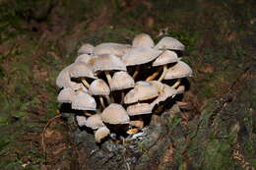
[[[253,169],[255,9],[253,0],[0,1],[0,169],[81,169],[87,155],[60,116],[55,79],[82,43],[131,43],[140,32],[179,39],[194,71],[184,97],[193,114],[171,118],[177,138],[153,167]]]

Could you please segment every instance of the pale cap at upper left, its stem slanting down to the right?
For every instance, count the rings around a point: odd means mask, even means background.
[[[70,76],[72,78],[91,78],[96,79],[92,67],[86,63],[77,62],[70,68]]]

